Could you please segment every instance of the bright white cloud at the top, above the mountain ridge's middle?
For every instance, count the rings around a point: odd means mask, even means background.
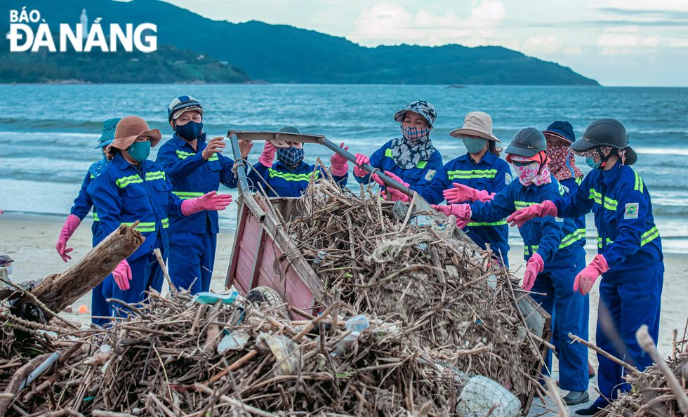
[[[356,21],[355,30],[348,34],[352,41],[373,44],[399,44],[412,42],[419,45],[437,46],[463,44],[479,46],[497,38],[496,27],[505,18],[504,4],[499,0],[482,0],[472,8],[464,20],[454,11],[439,15],[426,10],[415,13],[403,6],[378,3],[364,8]]]

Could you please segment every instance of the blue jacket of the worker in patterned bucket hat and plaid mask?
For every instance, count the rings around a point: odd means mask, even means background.
[[[435,173],[442,169],[442,155],[439,154],[439,151],[435,151],[432,152],[428,161],[418,161],[414,168],[399,168],[392,158],[392,140],[390,140],[383,147],[373,152],[370,156],[370,164],[382,172],[390,171],[409,185],[428,185],[435,177]],[[364,177],[355,176],[355,178],[360,184],[370,182],[370,174]],[[383,190],[385,187],[381,186],[380,192]]]

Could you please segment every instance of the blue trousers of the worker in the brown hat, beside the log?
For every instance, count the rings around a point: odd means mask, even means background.
[[[157,246],[159,247],[159,246]],[[162,291],[162,283],[164,275],[162,267],[158,263],[158,259],[152,252],[146,253],[135,260],[129,260],[129,267],[131,268],[131,281],[129,281],[129,289],[122,291],[119,286],[114,283],[112,275],[110,279],[112,283],[112,298],[117,298],[125,303],[138,307],[143,304],[146,298],[145,291],[154,289],[155,291]],[[107,284],[105,284],[107,286]],[[128,309],[118,303],[110,303],[112,315],[121,315],[126,317]],[[119,312],[118,310],[119,309]]]

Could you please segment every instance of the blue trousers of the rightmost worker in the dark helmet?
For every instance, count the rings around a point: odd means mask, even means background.
[[[642,271],[636,273],[642,274]],[[657,342],[663,284],[664,274],[628,284],[615,284],[602,279],[600,304],[597,307],[596,345],[635,365],[639,371],[651,365],[652,358],[638,345],[635,332],[640,326],[647,324],[650,336]],[[626,352],[619,352],[619,349],[625,349]],[[597,385],[604,397],[615,399],[617,390],[627,392],[630,389],[629,384],[621,379],[621,365],[599,354],[597,360],[600,362],[597,368]],[[606,407],[607,404],[603,397],[595,400],[597,407]]]

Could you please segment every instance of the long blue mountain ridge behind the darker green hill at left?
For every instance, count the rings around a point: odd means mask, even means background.
[[[9,15],[13,0],[0,0]],[[499,46],[378,46],[288,25],[211,20],[157,0],[28,0],[57,30],[59,23],[89,20],[157,25],[159,44],[206,51],[246,69],[252,79],[270,82],[351,84],[586,85],[597,81],[568,67],[528,57]],[[7,25],[7,24],[6,24]],[[7,43],[8,41],[1,41]]]

